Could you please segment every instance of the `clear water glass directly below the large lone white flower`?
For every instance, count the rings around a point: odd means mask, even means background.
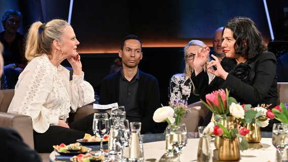
[[[170,125],[170,129],[166,129],[166,134],[168,133],[168,139],[166,142],[170,146],[172,146],[171,150],[167,150],[168,152],[175,152],[177,154],[181,153],[181,151],[187,145],[187,129],[185,124],[179,125]]]

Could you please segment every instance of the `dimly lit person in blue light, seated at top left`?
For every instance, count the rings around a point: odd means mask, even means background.
[[[4,45],[4,74],[9,89],[14,89],[19,74],[27,64],[24,56],[24,37],[17,32],[22,14],[17,10],[8,10],[2,17],[4,31],[0,33],[0,42]]]

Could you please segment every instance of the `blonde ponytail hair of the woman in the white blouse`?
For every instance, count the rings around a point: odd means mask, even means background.
[[[71,27],[65,20],[60,19],[51,20],[47,24],[34,22],[29,28],[25,45],[25,57],[28,62],[44,53],[51,54],[53,41],[61,41],[68,26]],[[41,34],[39,30],[42,30]]]

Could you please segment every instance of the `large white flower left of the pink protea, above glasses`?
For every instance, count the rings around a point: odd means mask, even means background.
[[[174,109],[169,106],[164,106],[158,108],[153,114],[153,120],[157,123],[164,121],[166,118],[170,121],[170,123],[175,122]]]

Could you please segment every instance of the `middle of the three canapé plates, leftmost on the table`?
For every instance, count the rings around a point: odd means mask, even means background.
[[[74,156],[80,153],[87,153],[92,150],[89,147],[81,146],[79,142],[71,143],[69,145],[61,143],[60,145],[54,145],[53,148],[60,155],[67,155],[67,156]]]

